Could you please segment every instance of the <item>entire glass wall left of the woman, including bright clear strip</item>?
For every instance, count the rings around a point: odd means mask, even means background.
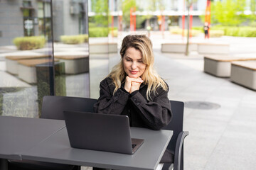
[[[0,4],[0,115],[38,118],[46,95],[99,97],[130,29],[121,1]]]

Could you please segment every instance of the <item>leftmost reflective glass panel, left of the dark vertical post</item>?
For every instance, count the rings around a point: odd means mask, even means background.
[[[3,0],[0,11],[0,115],[38,118],[52,94],[50,1]]]

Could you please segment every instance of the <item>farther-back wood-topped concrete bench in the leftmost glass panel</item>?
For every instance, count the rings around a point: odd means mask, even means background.
[[[18,74],[18,60],[48,58],[50,55],[8,55],[6,56],[6,72]]]

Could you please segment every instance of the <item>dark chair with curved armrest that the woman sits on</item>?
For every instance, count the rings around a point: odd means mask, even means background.
[[[162,170],[183,170],[183,142],[188,135],[188,131],[183,131],[183,111],[184,103],[181,101],[170,101],[172,119],[171,123],[166,125],[165,130],[174,130],[174,135],[167,146],[171,152],[174,152],[174,163],[164,164]]]

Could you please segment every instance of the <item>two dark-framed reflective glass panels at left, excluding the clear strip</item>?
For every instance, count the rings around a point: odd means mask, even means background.
[[[89,97],[86,0],[0,1],[0,115],[38,118],[43,96]]]

